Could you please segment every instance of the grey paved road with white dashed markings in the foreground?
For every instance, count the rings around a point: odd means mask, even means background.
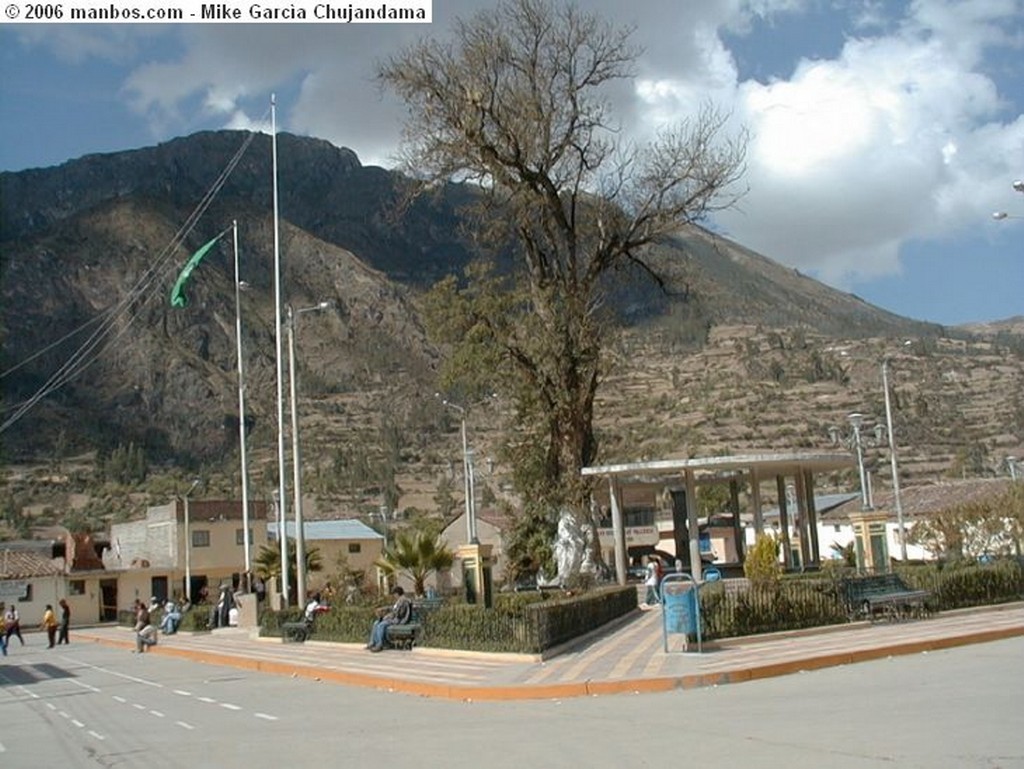
[[[717,688],[471,702],[100,645],[0,661],[0,767],[1024,769],[1024,638]]]

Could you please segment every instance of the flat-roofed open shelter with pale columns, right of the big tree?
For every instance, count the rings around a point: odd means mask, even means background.
[[[612,539],[614,542],[615,575],[626,584],[627,547],[621,488],[625,482],[642,482],[665,486],[671,495],[673,530],[677,558],[688,566],[694,580],[700,579],[700,543],[698,535],[696,488],[705,483],[727,483],[733,506],[738,508],[739,486],[749,483],[754,527],[764,530],[761,512],[761,484],[775,480],[779,500],[779,531],[786,566],[792,566],[790,529],[795,525],[800,532],[801,562],[817,564],[820,552],[817,541],[817,512],[814,509],[814,476],[856,467],[856,459],[845,453],[763,453],[733,457],[702,457],[666,459],[616,465],[585,467],[582,474],[607,479],[607,494],[611,512]],[[788,510],[785,487],[793,479],[796,489],[796,510]],[[736,527],[736,542],[742,542],[739,532],[738,509],[732,516]],[[791,521],[791,515],[795,520]],[[738,553],[742,560],[742,552]]]

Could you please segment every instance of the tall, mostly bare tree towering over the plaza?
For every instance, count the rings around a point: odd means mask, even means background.
[[[474,183],[474,237],[515,249],[513,275],[450,280],[434,306],[452,340],[514,374],[520,424],[539,439],[519,443],[541,446],[529,498],[549,510],[586,510],[608,273],[633,266],[664,286],[647,247],[731,205],[742,170],[745,136],[725,136],[708,106],[647,143],[622,135],[606,94],[633,75],[631,34],[572,5],[506,0],[378,72],[409,106],[407,170],[425,187]]]

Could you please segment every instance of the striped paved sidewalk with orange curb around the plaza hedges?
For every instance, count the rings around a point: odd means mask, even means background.
[[[541,699],[668,691],[782,676],[1024,636],[1024,603],[948,611],[898,624],[857,623],[709,644],[702,653],[665,650],[660,611],[635,616],[552,659],[416,648],[371,654],[361,644],[285,644],[248,630],[161,636],[148,653],[430,697],[465,700]],[[120,627],[74,631],[77,642],[133,649]]]

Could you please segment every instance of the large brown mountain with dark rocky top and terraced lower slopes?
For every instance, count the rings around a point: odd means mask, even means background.
[[[307,485],[372,496],[375,468],[390,457],[403,495],[421,489],[410,499],[429,505],[458,445],[451,413],[433,398],[440,353],[416,299],[471,259],[461,207],[473,190],[453,184],[404,204],[408,179],[348,149],[288,134],[278,143],[286,301],[332,302],[303,314],[296,334]],[[170,248],[231,165],[195,229]],[[46,458],[58,443],[133,441],[184,464],[237,452],[229,239],[194,274],[186,308],[167,300],[188,255],[237,220],[248,416],[267,483],[276,416],[270,178],[269,137],[236,131],[0,174],[5,420],[52,389],[5,429],[8,460]],[[970,451],[988,457],[986,467],[1024,452],[1019,323],[950,331],[900,317],[699,228],[652,258],[669,294],[629,275],[608,287],[621,324],[598,417],[609,458],[818,445],[843,409],[878,401],[878,356],[907,338],[915,352],[899,350],[900,377],[913,369],[916,379],[896,382],[897,409],[923,441],[908,453],[920,452],[922,474]],[[51,382],[62,366],[67,382]],[[474,417],[478,439],[496,442],[499,422]]]

